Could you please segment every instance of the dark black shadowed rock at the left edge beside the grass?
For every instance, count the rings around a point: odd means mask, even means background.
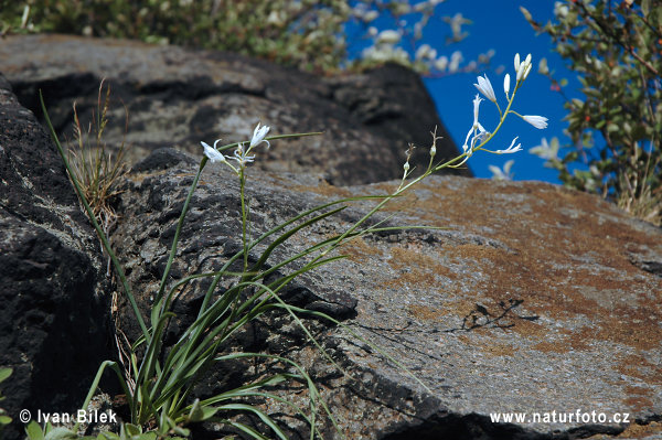
[[[72,411],[109,348],[109,297],[99,245],[62,160],[0,75],[0,406],[23,438],[19,410]],[[86,388],[87,387],[87,388]]]

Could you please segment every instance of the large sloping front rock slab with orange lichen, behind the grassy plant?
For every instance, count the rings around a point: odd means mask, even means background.
[[[195,171],[195,159],[161,150],[127,182],[125,221],[114,237],[143,304],[162,273]],[[339,189],[314,175],[256,169],[249,174],[254,236],[331,198],[384,194],[396,185]],[[173,280],[217,268],[238,249],[235,180],[217,165],[204,170]],[[296,235],[269,262],[343,232],[366,210],[353,205]],[[259,346],[287,353],[320,378],[349,439],[574,439],[621,432],[619,438],[630,438],[628,432],[649,428],[651,439],[662,436],[654,422],[662,416],[660,228],[598,197],[554,185],[457,176],[427,180],[385,215],[393,215],[393,225],[447,229],[351,242],[342,248],[349,259],[299,278],[284,296],[344,320],[431,393],[340,328],[311,323],[357,380],[324,366],[286,321],[271,323]],[[180,313],[199,294],[195,288],[188,291]],[[596,411],[607,419],[559,422],[560,414],[578,410],[581,417]],[[513,411],[528,419],[490,420],[490,414]],[[533,422],[534,412],[548,419]],[[616,414],[628,414],[627,431],[612,420]],[[324,432],[337,438],[329,426]]]

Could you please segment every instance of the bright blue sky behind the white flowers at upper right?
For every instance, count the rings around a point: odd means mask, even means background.
[[[415,2],[414,2],[415,3]],[[478,178],[491,178],[489,165],[502,167],[510,159],[515,163],[511,169],[514,180],[541,180],[560,183],[555,170],[544,168],[544,161],[528,153],[528,149],[541,143],[543,137],[551,140],[557,137],[560,144],[567,144],[569,139],[563,135],[567,122],[563,120],[566,110],[563,107],[563,98],[551,89],[547,77],[537,73],[541,58],[547,58],[551,71],[555,71],[556,79],[565,77],[570,81],[570,86],[565,93],[572,97],[577,96],[577,84],[575,74],[564,67],[564,61],[553,52],[553,44],[546,34],[536,36],[535,31],[526,22],[520,6],[526,8],[534,20],[546,23],[553,19],[554,0],[447,0],[437,7],[437,11],[444,15],[453,15],[461,12],[462,15],[472,21],[465,25],[462,31],[469,36],[458,44],[445,45],[446,36],[450,34],[449,26],[439,21],[430,21],[421,43],[435,47],[440,55],[447,55],[460,50],[465,60],[476,60],[479,54],[494,50],[492,58],[493,69],[484,73],[490,78],[502,109],[505,106],[503,95],[503,76],[511,74],[514,86],[513,57],[520,53],[522,58],[532,54],[533,68],[524,85],[517,92],[512,109],[522,115],[541,115],[547,117],[548,127],[538,130],[521,118],[510,115],[496,137],[489,144],[492,150],[505,149],[512,139],[519,136],[517,142],[522,143],[524,151],[516,154],[496,155],[480,152],[474,154],[468,162],[469,168]],[[384,29],[384,28],[382,28]],[[503,66],[504,71],[496,74],[496,67]],[[433,99],[437,105],[437,111],[450,132],[458,148],[463,143],[467,131],[473,122],[472,99],[478,93],[473,84],[477,82],[476,74],[456,74],[441,78],[424,78]],[[575,89],[573,89],[575,87]],[[512,88],[512,86],[511,86]],[[484,100],[481,104],[480,121],[488,131],[496,126],[499,114],[495,106]]]

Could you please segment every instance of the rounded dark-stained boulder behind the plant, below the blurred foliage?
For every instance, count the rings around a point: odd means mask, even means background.
[[[258,167],[322,173],[335,185],[399,178],[408,142],[428,146],[435,126],[445,137],[438,157],[457,155],[420,78],[396,65],[320,79],[231,53],[30,35],[2,40],[0,66],[19,100],[35,114],[38,90],[44,90],[56,129],[70,139],[73,101],[89,120],[99,82],[107,78],[128,110],[126,142],[134,161],[162,147],[200,154],[201,140],[244,140],[258,120],[274,127],[273,133],[325,133],[281,143]],[[111,110],[115,124],[105,139],[117,146],[125,109],[116,101]],[[418,150],[412,165],[426,167],[427,151]]]

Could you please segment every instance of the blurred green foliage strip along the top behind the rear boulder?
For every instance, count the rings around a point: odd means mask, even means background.
[[[0,0],[0,29],[138,39],[226,50],[303,71],[398,62],[426,73],[453,73],[487,64],[492,53],[460,66],[461,53],[437,54],[419,44],[435,20],[448,43],[467,36],[461,14],[442,17],[445,0]],[[349,63],[349,28],[367,45]]]

